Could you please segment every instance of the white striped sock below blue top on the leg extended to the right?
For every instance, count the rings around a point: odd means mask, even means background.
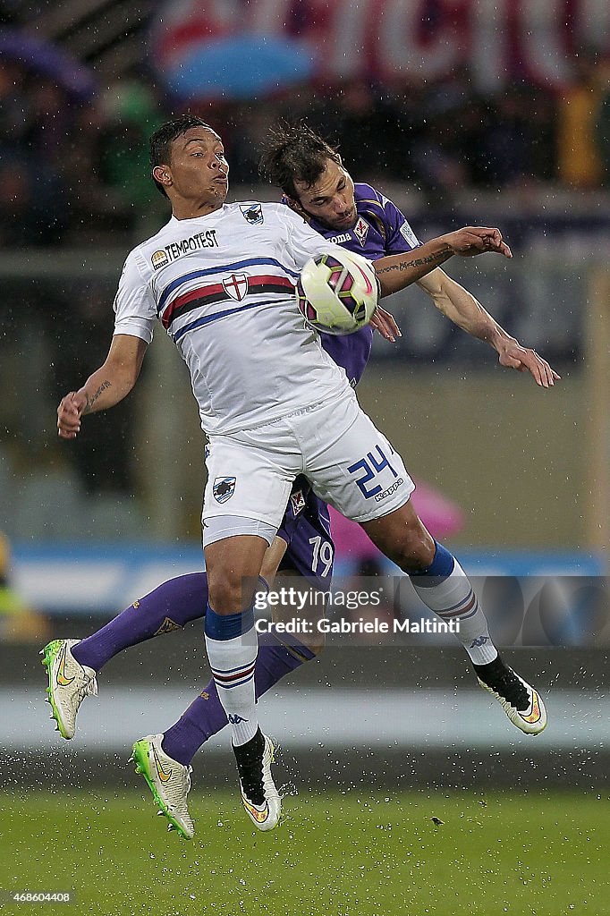
[[[459,621],[460,629],[455,635],[475,665],[485,665],[497,658],[485,614],[479,607],[468,576],[455,558],[452,573],[441,581],[440,577],[432,576],[411,576],[410,579],[430,611],[438,614],[441,620]],[[430,581],[436,584],[431,585]]]

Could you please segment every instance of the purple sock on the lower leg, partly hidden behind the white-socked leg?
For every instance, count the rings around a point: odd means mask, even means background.
[[[306,646],[293,643],[289,649],[269,633],[258,637],[258,657],[255,668],[256,699],[277,684],[290,671],[310,661],[315,653]],[[191,703],[186,713],[164,736],[162,747],[173,760],[188,767],[196,752],[208,738],[227,725],[226,713],[218,699],[216,684],[209,682],[205,690]]]

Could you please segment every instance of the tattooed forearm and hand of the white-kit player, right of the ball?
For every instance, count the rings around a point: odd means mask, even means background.
[[[381,257],[375,262],[381,295],[390,296],[393,292],[398,292],[398,289],[405,289],[411,283],[416,283],[453,255],[472,257],[482,255],[486,251],[512,257],[500,230],[488,226],[465,226],[457,232],[440,235],[439,238],[434,238],[406,254]]]

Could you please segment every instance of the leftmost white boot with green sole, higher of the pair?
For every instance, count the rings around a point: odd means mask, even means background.
[[[76,714],[86,696],[97,696],[95,671],[82,665],[72,655],[72,646],[80,639],[53,639],[40,650],[42,664],[49,675],[49,703],[51,718],[57,722],[60,735],[74,736]]]

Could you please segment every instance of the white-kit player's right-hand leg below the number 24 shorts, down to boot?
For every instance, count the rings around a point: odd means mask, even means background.
[[[522,732],[538,735],[547,725],[539,693],[499,656],[485,614],[460,563],[424,528],[410,502],[363,524],[390,560],[408,573],[419,598],[441,620],[457,620],[458,638],[473,662],[480,685],[502,705]]]

